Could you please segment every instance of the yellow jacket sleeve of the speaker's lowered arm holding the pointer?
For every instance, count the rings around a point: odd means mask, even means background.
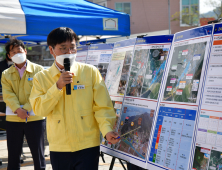
[[[95,118],[99,124],[99,129],[102,132],[102,135],[105,137],[108,132],[113,131],[116,114],[106,85],[99,70],[96,68],[94,70],[93,97],[93,111],[95,112]]]

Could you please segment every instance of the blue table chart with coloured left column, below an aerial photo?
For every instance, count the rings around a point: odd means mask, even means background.
[[[171,169],[187,169],[196,111],[160,107],[149,161]]]

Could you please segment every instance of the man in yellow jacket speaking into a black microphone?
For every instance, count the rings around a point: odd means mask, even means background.
[[[47,117],[47,138],[53,170],[97,170],[100,131],[113,144],[115,112],[99,70],[75,62],[77,35],[67,27],[49,33],[54,64],[33,79],[30,103],[36,115]],[[64,70],[70,59],[70,71]],[[66,95],[71,84],[71,95]]]

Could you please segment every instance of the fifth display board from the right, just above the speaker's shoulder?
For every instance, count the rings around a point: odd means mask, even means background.
[[[97,67],[104,81],[112,56],[113,46],[114,44],[92,44],[89,46],[86,63]]]

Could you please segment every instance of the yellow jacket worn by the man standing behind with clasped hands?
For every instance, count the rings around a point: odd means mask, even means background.
[[[43,67],[34,64],[27,60],[26,70],[20,79],[19,72],[12,65],[10,68],[2,73],[2,93],[3,100],[13,112],[23,105],[23,109],[31,111],[32,107],[29,103],[29,96],[32,90],[33,77],[36,73],[43,70]],[[42,120],[44,117],[41,116],[30,116],[28,122]],[[6,120],[10,122],[25,122],[25,119],[21,119],[16,114],[6,115]]]

